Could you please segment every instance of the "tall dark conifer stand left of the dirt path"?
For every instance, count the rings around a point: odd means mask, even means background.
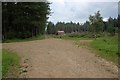
[[[3,2],[2,40],[29,38],[44,34],[50,3]]]

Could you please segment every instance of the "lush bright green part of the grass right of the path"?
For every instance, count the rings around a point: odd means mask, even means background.
[[[91,45],[97,54],[107,60],[118,63],[118,37],[117,36],[105,36],[97,38]]]

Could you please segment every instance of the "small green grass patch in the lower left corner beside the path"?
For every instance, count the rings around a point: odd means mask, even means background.
[[[9,50],[2,50],[2,76],[7,76],[8,73],[12,73],[11,71],[13,67],[19,67],[20,58],[15,52]]]

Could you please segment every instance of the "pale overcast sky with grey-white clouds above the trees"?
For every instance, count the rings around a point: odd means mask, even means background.
[[[119,0],[49,0],[51,12],[48,19],[51,22],[80,22],[88,20],[90,14],[94,14],[100,10],[104,20],[110,16],[116,18],[118,16]]]

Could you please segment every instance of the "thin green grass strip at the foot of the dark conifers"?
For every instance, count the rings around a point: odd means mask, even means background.
[[[35,36],[35,37],[31,37],[31,38],[26,38],[26,39],[9,39],[4,41],[4,43],[11,43],[11,42],[26,42],[26,41],[34,41],[34,40],[42,40],[45,39],[44,35],[41,36]]]

